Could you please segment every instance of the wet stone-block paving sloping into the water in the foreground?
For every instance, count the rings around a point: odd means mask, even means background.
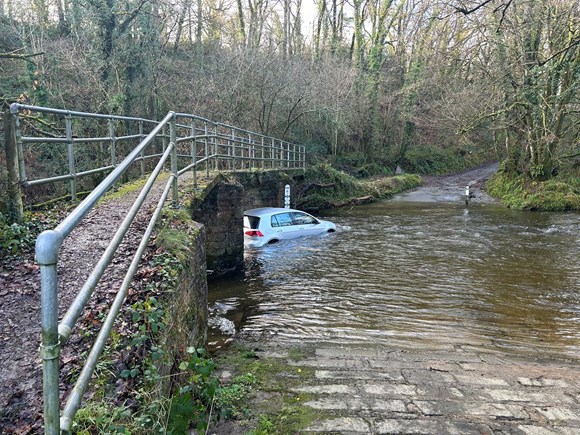
[[[460,349],[303,346],[310,433],[580,434],[580,364]]]

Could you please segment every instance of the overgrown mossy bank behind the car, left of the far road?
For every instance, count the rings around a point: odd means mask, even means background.
[[[415,174],[361,180],[329,164],[319,164],[306,169],[297,204],[301,208],[336,208],[356,204],[361,199],[364,202],[387,199],[421,184],[421,177]]]

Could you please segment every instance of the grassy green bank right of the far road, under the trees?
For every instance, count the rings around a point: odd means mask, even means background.
[[[486,184],[491,196],[517,210],[580,210],[580,179],[558,176],[546,181],[500,169]]]

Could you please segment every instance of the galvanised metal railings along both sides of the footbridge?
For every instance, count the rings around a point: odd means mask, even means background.
[[[65,135],[62,137],[23,136],[20,130],[22,111],[26,113],[44,113],[60,116],[65,121]],[[19,174],[25,186],[68,180],[71,196],[76,196],[76,181],[79,177],[97,172],[110,171],[106,178],[72,211],[56,228],[44,231],[36,241],[36,261],[40,265],[41,275],[41,317],[42,343],[40,355],[43,362],[43,397],[44,429],[47,434],[69,432],[74,415],[80,407],[81,399],[89,385],[98,359],[105,347],[113,324],[127,296],[133,276],[137,271],[141,255],[145,251],[161,210],[172,193],[172,202],[178,204],[178,177],[187,171],[193,171],[194,185],[197,186],[198,165],[204,165],[209,176],[210,169],[238,170],[251,168],[296,168],[304,167],[304,147],[266,137],[255,132],[238,129],[225,124],[214,123],[207,119],[169,112],[160,122],[140,118],[115,117],[100,114],[71,112],[43,107],[14,104],[11,106],[16,126],[18,146]],[[80,138],[73,135],[73,119],[105,120],[109,126],[108,136]],[[115,136],[115,122],[137,123],[137,134]],[[143,132],[144,126],[151,126],[149,133]],[[138,139],[128,155],[117,163],[117,145],[119,141]],[[89,142],[106,142],[109,144],[110,162],[104,166],[81,172],[76,171],[77,145]],[[28,180],[24,167],[24,148],[27,143],[66,144],[69,171],[67,174]],[[159,147],[157,152],[155,146]],[[72,230],[79,225],[87,213],[97,204],[100,198],[134,165],[140,163],[140,170],[145,172],[145,162],[155,159],[155,167],[147,178],[144,187],[131,206],[123,222],[116,230],[108,247],[97,261],[89,277],[82,285],[75,300],[64,317],[58,322],[57,263],[59,251]],[[164,166],[169,163],[170,176],[157,206],[141,239],[139,247],[125,274],[123,283],[117,291],[109,312],[103,321],[97,338],[87,356],[85,365],[73,387],[61,414],[59,400],[59,364],[60,349],[66,344],[81,313],[91,298],[105,270],[111,263],[117,248],[129,230],[135,216],[141,209]]]

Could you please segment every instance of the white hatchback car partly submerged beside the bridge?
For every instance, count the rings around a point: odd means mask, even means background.
[[[244,244],[258,248],[280,240],[336,231],[336,225],[300,210],[265,207],[244,212]]]

